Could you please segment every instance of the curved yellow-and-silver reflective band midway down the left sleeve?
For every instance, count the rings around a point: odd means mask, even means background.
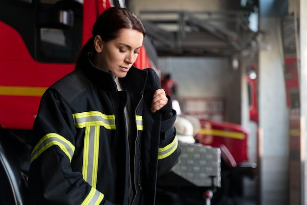
[[[31,154],[31,162],[53,145],[57,145],[68,156],[69,160],[72,160],[75,146],[61,135],[49,133],[46,134],[34,147]]]

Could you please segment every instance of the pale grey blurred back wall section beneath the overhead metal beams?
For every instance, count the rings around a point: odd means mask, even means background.
[[[159,57],[159,67],[178,83],[179,98],[226,96],[227,58]]]

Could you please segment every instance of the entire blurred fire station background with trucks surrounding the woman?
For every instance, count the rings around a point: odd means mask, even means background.
[[[183,152],[157,205],[306,205],[306,0],[0,0],[0,205],[31,204],[40,97],[111,6],[144,23],[135,66],[178,112]]]

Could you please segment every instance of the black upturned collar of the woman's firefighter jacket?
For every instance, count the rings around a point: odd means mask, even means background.
[[[117,91],[117,86],[114,81],[114,75],[111,71],[105,72],[97,68],[92,63],[93,53],[88,52],[87,56],[83,58],[76,70],[80,70],[87,78],[94,84],[102,87],[108,91]],[[140,70],[132,66],[126,77],[120,78],[123,86],[133,93],[144,93],[148,71]]]

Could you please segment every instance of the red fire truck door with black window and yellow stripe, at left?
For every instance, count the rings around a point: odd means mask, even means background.
[[[82,24],[76,0],[0,1],[2,128],[32,128],[42,94],[74,69]]]

